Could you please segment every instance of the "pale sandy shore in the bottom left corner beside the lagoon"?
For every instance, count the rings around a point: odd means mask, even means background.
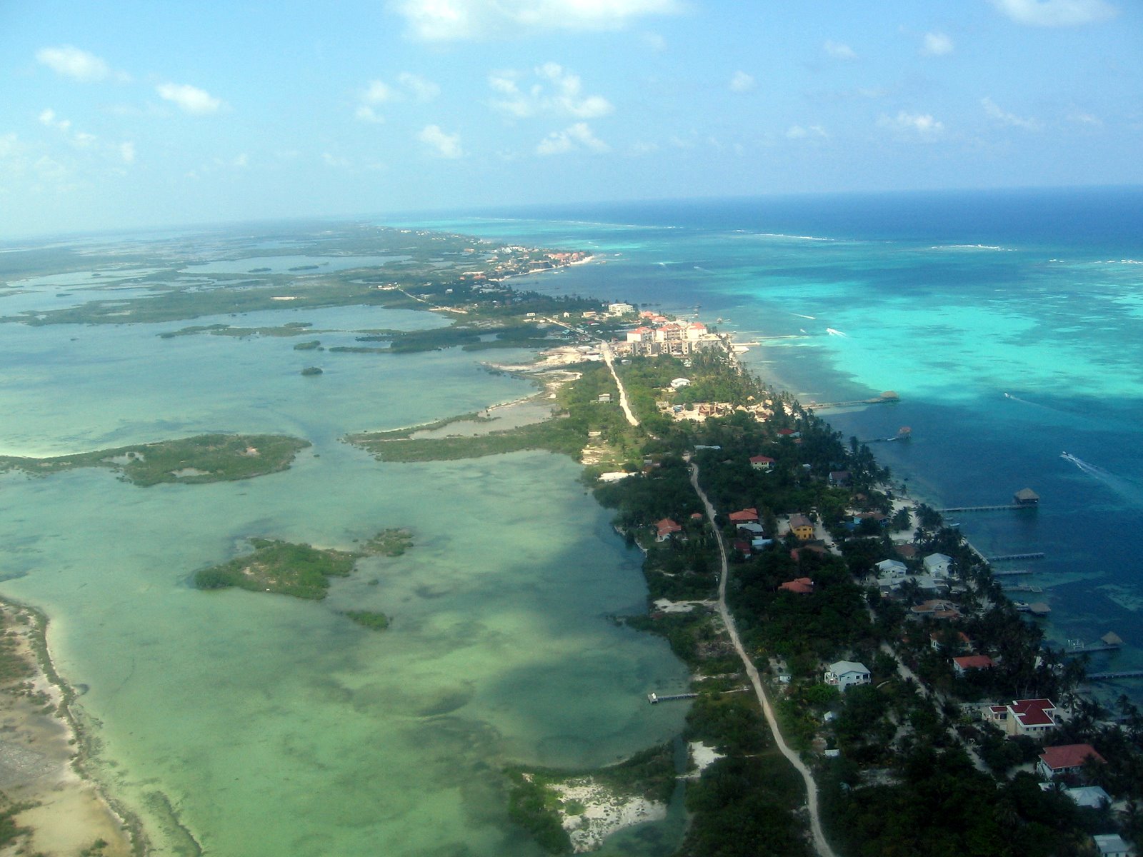
[[[134,847],[122,818],[82,775],[82,742],[69,711],[73,691],[56,674],[42,614],[0,601],[3,674],[0,684],[0,793],[18,808],[19,828],[0,855],[128,857]],[[101,846],[102,843],[102,846]]]

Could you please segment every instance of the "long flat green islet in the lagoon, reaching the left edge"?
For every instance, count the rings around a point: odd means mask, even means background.
[[[128,482],[201,484],[253,479],[288,470],[310,441],[280,434],[199,434],[49,458],[0,456],[0,473],[48,475],[77,467],[106,467]]]

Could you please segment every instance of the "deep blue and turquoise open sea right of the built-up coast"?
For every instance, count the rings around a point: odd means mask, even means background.
[[[390,218],[387,222],[395,223]],[[403,222],[408,223],[408,221]],[[698,312],[745,362],[824,411],[988,555],[1033,575],[1048,639],[1126,646],[1092,671],[1143,667],[1143,189],[840,194],[549,207],[418,225],[582,248],[591,264],[520,286]],[[1068,451],[1078,460],[1061,457]],[[1102,684],[1143,700],[1143,682]]]

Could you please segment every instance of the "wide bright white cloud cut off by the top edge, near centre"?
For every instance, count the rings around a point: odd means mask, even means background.
[[[515,38],[550,30],[620,30],[646,15],[682,10],[680,0],[390,0],[426,41]]]

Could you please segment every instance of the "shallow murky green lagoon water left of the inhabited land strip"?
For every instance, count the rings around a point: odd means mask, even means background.
[[[0,592],[50,616],[58,668],[86,688],[94,769],[157,854],[192,852],[183,828],[243,857],[535,854],[506,819],[502,766],[602,764],[680,730],[685,706],[644,694],[684,683],[684,666],[608,618],[645,608],[641,555],[576,464],[383,464],[338,441],[527,384],[456,350],[326,355],[326,375],[302,378],[294,365],[314,358],[293,339],[157,329],[6,328],[24,376],[0,385],[5,443],[73,451],[207,428],[314,442],[290,471],[243,482],[0,476]],[[323,602],[187,584],[250,536],[347,548],[385,527],[410,528],[415,547],[362,561]],[[366,631],[345,609],[392,626]]]

